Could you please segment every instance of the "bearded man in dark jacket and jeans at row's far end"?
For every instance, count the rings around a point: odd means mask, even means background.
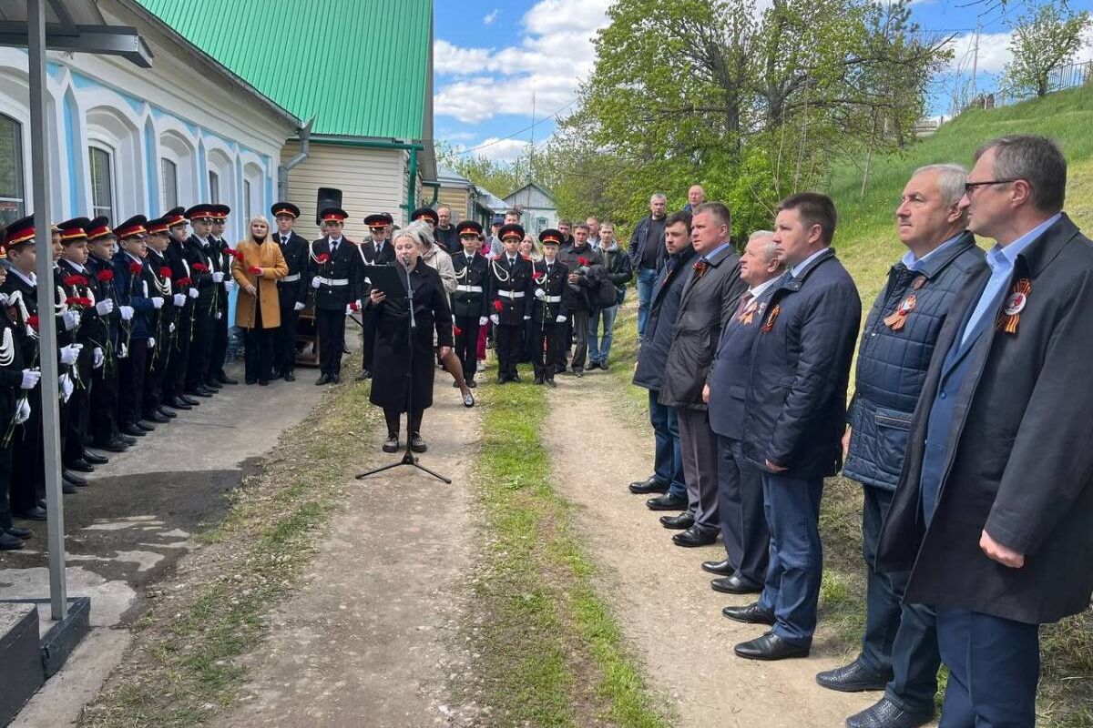
[[[691,215],[675,213],[665,222],[665,247],[668,256],[660,268],[653,289],[648,335],[642,339],[634,369],[634,384],[649,391],[649,423],[656,443],[653,475],[645,480],[630,484],[630,492],[644,496],[663,493],[647,501],[653,511],[686,510],[686,479],[683,475],[683,453],[680,449],[679,420],[675,409],[660,404],[668,349],[672,344],[672,329],[679,313],[683,284],[691,271],[694,248],[691,247]]]

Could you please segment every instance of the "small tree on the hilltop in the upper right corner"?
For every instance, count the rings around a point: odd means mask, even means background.
[[[1090,28],[1088,11],[1070,12],[1066,5],[1030,5],[1029,12],[1012,24],[1010,51],[1013,60],[1006,77],[1015,91],[1045,96],[1051,73],[1073,61]]]

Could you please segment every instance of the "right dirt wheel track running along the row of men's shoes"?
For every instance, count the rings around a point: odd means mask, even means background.
[[[549,440],[554,487],[577,505],[579,534],[602,570],[601,594],[644,659],[650,685],[678,712],[679,726],[841,726],[872,704],[877,693],[845,695],[815,684],[818,671],[845,659],[822,632],[809,659],[733,656],[734,644],[765,628],[732,622],[720,610],[752,599],[709,588],[700,564],[724,558],[720,541],[698,549],[672,545],[674,532],[657,523],[644,497],[626,490],[651,469],[653,433],[615,414],[612,383],[602,377],[560,377],[550,395],[551,430],[560,435]]]

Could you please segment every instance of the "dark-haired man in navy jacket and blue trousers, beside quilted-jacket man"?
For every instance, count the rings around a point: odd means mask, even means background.
[[[820,498],[838,472],[846,385],[861,299],[830,247],[835,203],[815,192],[781,201],[774,242],[789,268],[774,288],[752,347],[742,454],[763,469],[771,565],[759,602],[726,607],[742,622],[771,624],[741,643],[748,659],[804,657],[812,644],[823,572]]]

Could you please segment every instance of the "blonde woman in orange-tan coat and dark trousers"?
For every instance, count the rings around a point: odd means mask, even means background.
[[[270,240],[265,217],[250,219],[250,239],[235,246],[232,276],[239,284],[235,325],[246,329],[245,373],[247,384],[270,383],[273,335],[281,325],[277,282],[289,274],[281,248]]]

